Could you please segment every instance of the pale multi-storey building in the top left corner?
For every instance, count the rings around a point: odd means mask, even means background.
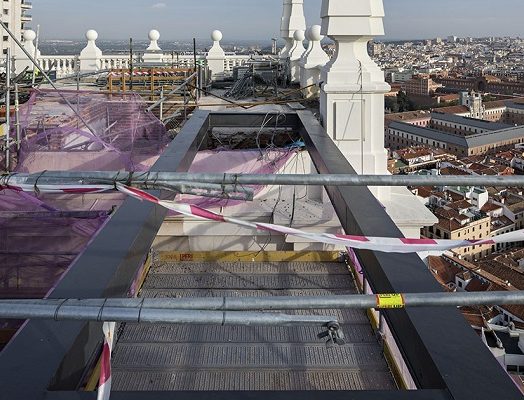
[[[26,14],[27,11],[33,8],[31,2],[27,0],[4,0],[2,2],[2,22],[13,32],[18,40],[23,40],[25,25],[32,21],[31,15]],[[11,49],[14,54],[16,44],[9,37],[7,32],[2,32],[1,36],[2,54],[7,53],[7,49]]]

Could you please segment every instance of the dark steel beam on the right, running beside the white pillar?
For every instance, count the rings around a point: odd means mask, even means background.
[[[298,111],[301,135],[321,174],[356,174],[310,112]],[[402,237],[365,187],[326,187],[348,234]],[[416,255],[359,251],[375,293],[431,293],[442,289]],[[385,318],[420,389],[447,388],[455,400],[517,400],[522,394],[456,308],[385,311]]]

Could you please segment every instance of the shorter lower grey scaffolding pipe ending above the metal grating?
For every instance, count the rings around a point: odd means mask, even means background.
[[[90,305],[75,305],[67,301],[41,300],[33,304],[0,303],[0,317],[6,319],[44,319],[54,321],[127,322],[157,324],[190,324],[220,326],[326,326],[336,323],[336,317],[301,316],[261,312],[184,311],[111,307],[98,300]]]

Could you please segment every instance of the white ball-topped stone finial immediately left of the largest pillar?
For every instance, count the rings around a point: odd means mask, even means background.
[[[300,87],[318,85],[320,83],[320,72],[329,62],[329,56],[322,48],[321,26],[313,25],[306,31],[309,47],[300,60]],[[304,97],[315,97],[319,93],[318,86],[303,90]]]

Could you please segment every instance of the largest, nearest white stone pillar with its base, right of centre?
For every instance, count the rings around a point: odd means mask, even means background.
[[[390,86],[368,54],[367,44],[384,35],[382,0],[323,0],[322,31],[336,52],[322,69],[320,111],[324,127],[359,174],[387,175],[384,94]],[[437,219],[406,188],[372,188],[408,236]]]

